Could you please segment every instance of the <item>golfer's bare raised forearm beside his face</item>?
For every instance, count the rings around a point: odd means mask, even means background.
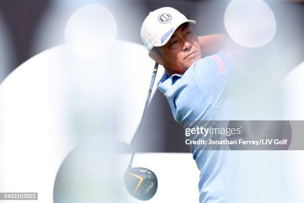
[[[204,55],[212,55],[225,50],[230,37],[227,34],[210,34],[199,36],[200,46]]]

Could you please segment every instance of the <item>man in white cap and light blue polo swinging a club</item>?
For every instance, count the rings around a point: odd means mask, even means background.
[[[195,23],[174,8],[162,7],[150,12],[141,29],[149,56],[165,69],[157,88],[167,98],[174,119],[184,128],[191,125],[189,121],[225,120],[229,113],[225,91],[230,65],[227,54],[219,52],[228,37],[198,37],[191,28]],[[195,148],[191,152],[201,172],[200,203],[231,202],[225,152]]]

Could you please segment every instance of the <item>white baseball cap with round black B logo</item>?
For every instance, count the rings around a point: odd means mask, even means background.
[[[171,7],[162,7],[150,12],[141,29],[141,38],[145,47],[151,51],[154,46],[165,45],[176,28],[185,22],[196,23],[194,20],[188,20],[185,15]]]

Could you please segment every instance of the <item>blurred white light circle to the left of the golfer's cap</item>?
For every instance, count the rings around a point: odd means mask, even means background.
[[[86,5],[68,20],[66,44],[81,57],[100,56],[114,43],[116,30],[116,21],[109,9],[100,4]]]

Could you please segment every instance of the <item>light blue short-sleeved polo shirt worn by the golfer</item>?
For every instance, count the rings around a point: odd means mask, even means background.
[[[170,77],[165,74],[157,88],[167,98],[174,119],[185,129],[194,127],[189,121],[227,120],[229,99],[226,90],[229,75],[228,55],[219,52],[196,60],[184,74]],[[226,174],[231,173],[231,167],[223,167],[227,166],[225,151],[191,147],[191,152],[201,172],[200,203],[207,203],[208,200],[213,200],[213,203],[223,200],[229,202],[231,197],[226,186],[230,180]]]

